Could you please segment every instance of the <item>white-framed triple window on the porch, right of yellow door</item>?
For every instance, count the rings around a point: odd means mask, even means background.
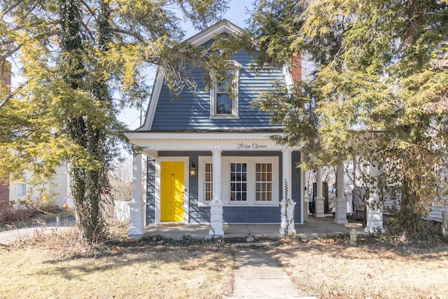
[[[260,162],[262,161],[262,162]],[[211,156],[198,158],[200,205],[213,200]],[[278,206],[280,198],[279,157],[221,157],[221,200],[228,206]]]

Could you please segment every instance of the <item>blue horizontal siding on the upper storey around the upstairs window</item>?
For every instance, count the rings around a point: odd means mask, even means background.
[[[274,80],[283,81],[283,72],[272,69],[256,74],[251,70],[253,57],[240,50],[232,60],[243,66],[239,70],[239,119],[210,119],[210,92],[205,92],[202,69],[195,69],[193,76],[197,82],[195,95],[184,90],[180,99],[172,99],[164,84],[160,92],[158,106],[153,119],[152,131],[210,130],[214,128],[268,128],[269,113],[251,109],[251,102],[261,91],[269,88]],[[206,75],[208,76],[208,75]]]

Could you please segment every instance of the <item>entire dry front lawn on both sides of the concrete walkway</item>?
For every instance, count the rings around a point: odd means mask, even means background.
[[[121,232],[119,232],[121,230]],[[223,298],[232,295],[237,248],[226,241],[131,241],[126,228],[102,246],[76,233],[0,248],[0,298]],[[293,239],[262,248],[317,298],[448,298],[448,244],[391,244],[348,236]]]

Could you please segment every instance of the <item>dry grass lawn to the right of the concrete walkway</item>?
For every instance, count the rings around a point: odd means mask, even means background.
[[[448,244],[349,246],[344,238],[288,242],[273,254],[318,298],[448,298]]]

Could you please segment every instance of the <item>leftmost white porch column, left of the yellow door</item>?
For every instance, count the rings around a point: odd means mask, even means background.
[[[132,161],[132,200],[129,202],[129,236],[141,236],[145,232],[144,206],[141,198],[141,153],[134,155]]]

